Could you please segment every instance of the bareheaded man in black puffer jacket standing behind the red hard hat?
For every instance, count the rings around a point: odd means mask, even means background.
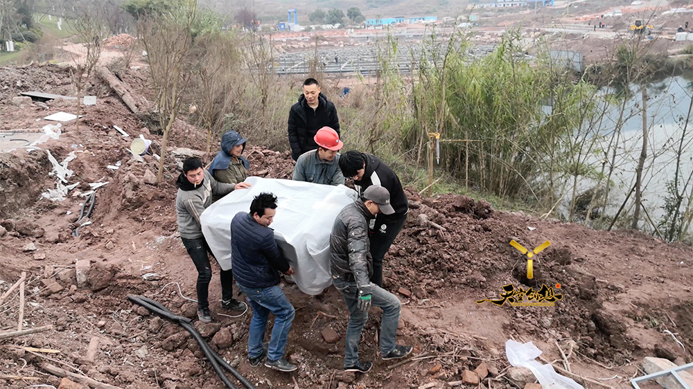
[[[315,78],[308,78],[303,85],[303,94],[289,111],[288,134],[291,158],[296,161],[301,154],[317,149],[313,139],[317,130],[330,127],[340,134],[340,119],[335,105],[320,93]]]

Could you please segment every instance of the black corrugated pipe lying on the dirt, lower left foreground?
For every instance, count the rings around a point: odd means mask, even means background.
[[[229,370],[231,374],[234,374],[234,377],[240,381],[240,383],[243,383],[243,385],[247,389],[256,389],[255,386],[253,386],[250,381],[245,379],[243,375],[241,375],[236,369],[231,367],[227,361],[225,361],[219,354],[217,354],[214,350],[212,350],[211,347],[207,344],[206,341],[204,341],[204,338],[200,333],[198,332],[197,329],[193,326],[193,320],[190,320],[188,318],[184,318],[182,316],[178,316],[174,314],[173,312],[169,311],[164,307],[163,305],[159,304],[159,302],[152,300],[150,298],[146,298],[144,296],[132,296],[128,295],[128,300],[133,302],[134,304],[141,305],[142,307],[145,307],[149,311],[151,311],[154,314],[157,314],[161,316],[162,318],[166,318],[168,320],[171,320],[173,322],[178,323],[181,325],[184,329],[186,329],[190,334],[195,338],[195,341],[198,342],[200,345],[200,348],[202,349],[202,352],[204,352],[204,356],[207,357],[207,360],[212,364],[212,367],[214,370],[217,372],[219,375],[219,378],[224,382],[224,384],[227,386],[229,389],[236,389],[236,386],[234,386],[231,381],[229,381],[229,378],[226,377],[226,374],[224,374],[224,371],[221,369],[222,367],[225,368],[226,370]]]

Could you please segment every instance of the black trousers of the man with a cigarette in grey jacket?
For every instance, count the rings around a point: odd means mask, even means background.
[[[209,265],[209,253],[212,257],[211,249],[204,240],[204,237],[195,239],[186,239],[181,237],[183,245],[188,254],[193,259],[195,268],[198,269],[198,309],[209,309],[209,282],[212,279],[212,268]],[[234,273],[231,270],[221,271],[221,298],[222,300],[231,300],[234,298]]]

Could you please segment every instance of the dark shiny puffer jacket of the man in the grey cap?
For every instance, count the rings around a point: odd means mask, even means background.
[[[362,201],[354,201],[342,209],[330,235],[332,275],[356,281],[360,296],[371,294],[373,258],[368,239],[368,223],[373,214]]]

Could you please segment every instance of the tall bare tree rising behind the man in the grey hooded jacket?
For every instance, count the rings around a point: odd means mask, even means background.
[[[164,176],[166,145],[182,99],[193,75],[191,30],[197,15],[197,1],[182,0],[171,12],[146,17],[137,30],[147,52],[152,87],[155,89],[156,113],[164,132],[157,183]]]

